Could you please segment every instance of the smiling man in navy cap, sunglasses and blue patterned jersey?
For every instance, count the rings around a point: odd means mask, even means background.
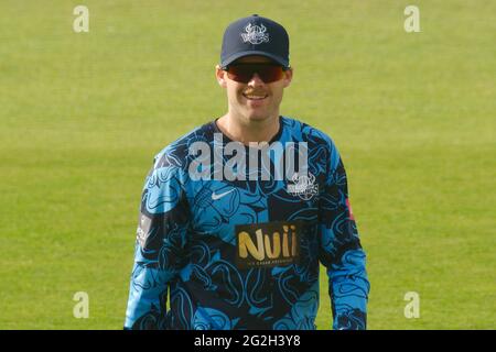
[[[226,29],[227,113],[148,175],[126,329],[315,329],[320,263],[333,328],[366,328],[345,169],[327,135],[279,114],[292,74],[280,24],[254,14]]]

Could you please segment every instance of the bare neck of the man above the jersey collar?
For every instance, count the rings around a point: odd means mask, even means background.
[[[269,142],[279,132],[279,114],[263,120],[242,120],[226,113],[217,120],[218,129],[233,141]]]

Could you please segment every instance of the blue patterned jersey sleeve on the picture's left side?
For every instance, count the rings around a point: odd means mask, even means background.
[[[125,329],[165,329],[168,288],[184,261],[188,207],[174,166],[152,168],[141,197]]]

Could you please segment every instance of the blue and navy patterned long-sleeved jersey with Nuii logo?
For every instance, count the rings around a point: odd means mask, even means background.
[[[306,143],[305,182],[192,177],[190,147],[198,141],[214,147],[219,133],[213,121],[154,158],[125,328],[315,329],[322,263],[333,328],[365,329],[365,253],[333,141],[281,117],[271,143]],[[220,143],[228,141],[223,135]]]

